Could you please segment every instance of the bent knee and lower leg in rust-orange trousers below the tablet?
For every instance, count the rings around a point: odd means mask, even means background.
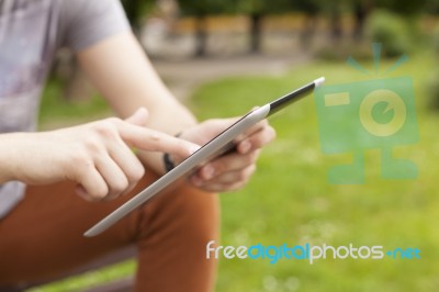
[[[179,188],[155,201],[139,226],[136,291],[213,290],[216,261],[206,259],[205,248],[218,239],[216,195]]]

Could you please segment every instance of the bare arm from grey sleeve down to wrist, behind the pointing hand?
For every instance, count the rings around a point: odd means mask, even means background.
[[[162,83],[131,33],[113,36],[80,52],[78,58],[122,119],[145,106],[149,112],[147,127],[176,135],[196,124],[193,115]],[[142,153],[140,158],[158,173],[164,172],[160,154]]]

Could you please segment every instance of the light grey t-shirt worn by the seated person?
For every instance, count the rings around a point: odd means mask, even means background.
[[[0,0],[0,133],[36,128],[57,48],[78,52],[128,30],[117,0]],[[19,181],[0,184],[0,218],[24,190]]]

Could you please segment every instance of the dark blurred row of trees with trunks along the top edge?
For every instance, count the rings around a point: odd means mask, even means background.
[[[154,11],[159,0],[122,0],[133,27],[139,27],[139,21]],[[206,18],[217,14],[246,14],[249,19],[249,52],[261,52],[263,20],[270,14],[288,13],[291,11],[301,12],[308,18],[303,29],[301,42],[307,46],[315,30],[315,16],[323,15],[329,20],[330,43],[340,41],[345,35],[342,15],[353,15],[353,31],[351,36],[354,41],[361,41],[364,36],[364,26],[370,15],[375,15],[370,21],[373,41],[391,43],[389,55],[398,54],[407,46],[407,34],[394,34],[402,32],[401,21],[395,14],[408,19],[416,18],[420,13],[439,13],[439,0],[176,0],[180,7],[180,13],[184,16],[194,16],[194,56],[206,55],[209,27]],[[391,19],[386,22],[380,18],[378,11],[392,11]],[[374,13],[376,12],[376,13]],[[378,15],[378,16],[376,16]],[[410,32],[413,33],[413,32]],[[417,40],[412,40],[417,42]],[[409,41],[408,41],[409,42]],[[334,46],[334,44],[331,44]],[[330,50],[330,49],[326,49]],[[329,52],[329,55],[330,52]]]

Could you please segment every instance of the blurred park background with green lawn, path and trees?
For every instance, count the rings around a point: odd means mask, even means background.
[[[409,76],[419,142],[396,149],[419,170],[415,180],[380,177],[380,150],[365,151],[364,184],[330,184],[329,167],[349,154],[322,153],[313,98],[271,123],[278,138],[241,191],[221,195],[222,244],[417,247],[418,260],[225,260],[216,291],[437,291],[439,289],[439,1],[125,0],[134,31],[171,91],[200,120],[239,115],[319,76],[327,85]],[[382,44],[378,75],[372,43]],[[409,60],[380,75],[406,54]],[[59,52],[46,87],[41,128],[111,111],[71,53]],[[135,262],[33,291],[87,291],[131,278]]]

